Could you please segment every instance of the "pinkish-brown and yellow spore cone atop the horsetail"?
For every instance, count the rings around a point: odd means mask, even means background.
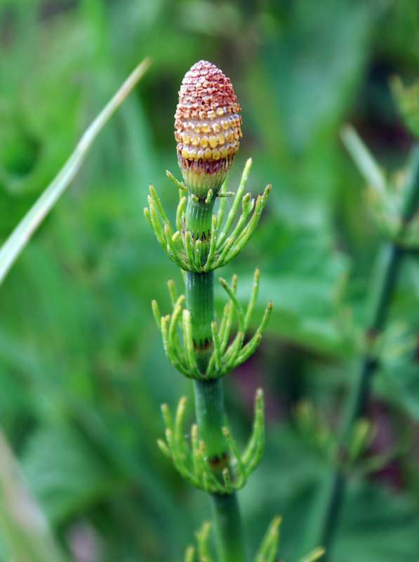
[[[241,137],[240,106],[230,79],[199,60],[185,74],[175,113],[178,162],[187,187],[198,197],[216,193],[227,176]]]

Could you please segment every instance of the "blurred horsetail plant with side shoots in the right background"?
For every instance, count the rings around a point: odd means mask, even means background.
[[[338,521],[345,498],[347,480],[354,460],[359,460],[368,445],[371,423],[367,421],[367,406],[371,398],[373,378],[380,367],[380,339],[385,332],[394,294],[406,256],[419,247],[419,81],[404,89],[399,78],[392,82],[394,98],[406,129],[415,137],[411,154],[403,173],[401,188],[392,185],[375,158],[352,126],[342,129],[342,140],[361,175],[368,183],[373,216],[383,234],[376,258],[374,274],[367,298],[363,349],[357,364],[356,377],[347,398],[345,416],[335,440],[333,468],[326,475],[319,491],[312,525],[307,525],[307,545],[321,540],[330,558],[338,530]],[[364,428],[364,430],[362,429]],[[354,447],[357,441],[358,446]],[[389,455],[390,453],[390,455]],[[367,457],[371,466],[391,458],[391,451],[380,457]]]

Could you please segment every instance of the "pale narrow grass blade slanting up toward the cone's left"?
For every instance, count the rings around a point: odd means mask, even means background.
[[[55,176],[53,181],[48,185],[48,188],[46,188],[41,197],[39,197],[34,206],[29,209],[24,218],[22,218],[22,221],[20,221],[15,230],[13,230],[13,233],[11,233],[6,242],[4,242],[3,246],[0,248],[0,284],[13,266],[13,263],[18,259],[18,256],[25,248],[27,242],[31,239],[36,228],[38,228],[48,212],[51,211],[62,193],[65,192],[74,176],[76,176],[95,138],[109,118],[112,117],[114,112],[118,109],[119,105],[121,105],[131,92],[135,84],[137,84],[138,80],[140,80],[149,67],[149,64],[149,58],[145,58],[138,67],[135,67],[117,93],[115,93],[113,98],[111,98],[102,109],[98,117],[88,126],[88,129],[86,129],[83,136],[81,136],[76,149],[67,162],[65,162],[64,166],[62,166],[58,175]]]

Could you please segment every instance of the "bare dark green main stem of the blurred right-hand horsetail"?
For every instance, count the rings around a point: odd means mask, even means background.
[[[313,525],[309,528],[310,545],[322,544],[326,547],[325,560],[331,554],[330,550],[337,530],[347,482],[347,473],[339,461],[345,460],[354,423],[365,413],[371,394],[371,381],[378,366],[378,360],[375,356],[375,342],[385,328],[405,253],[402,240],[411,218],[418,211],[418,204],[419,145],[415,145],[409,159],[408,176],[404,186],[399,236],[397,240],[383,244],[378,255],[377,268],[371,284],[369,310],[364,335],[365,351],[359,363],[355,384],[348,398],[347,410],[338,441],[338,466],[333,473],[328,474],[324,481],[319,496],[319,503],[314,509]]]

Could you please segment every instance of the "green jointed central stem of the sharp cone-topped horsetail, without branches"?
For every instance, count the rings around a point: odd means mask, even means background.
[[[196,201],[188,197],[185,226],[203,241],[202,260],[205,263],[209,249],[209,233],[213,201]],[[205,244],[205,242],[207,242]],[[185,275],[186,307],[191,313],[192,339],[197,365],[205,373],[213,353],[211,322],[214,320],[213,271]],[[194,381],[195,410],[199,438],[215,478],[222,482],[222,470],[230,465],[229,446],[222,433],[225,426],[225,405],[221,379]],[[244,540],[237,495],[213,494],[213,518],[219,562],[246,562]]]

